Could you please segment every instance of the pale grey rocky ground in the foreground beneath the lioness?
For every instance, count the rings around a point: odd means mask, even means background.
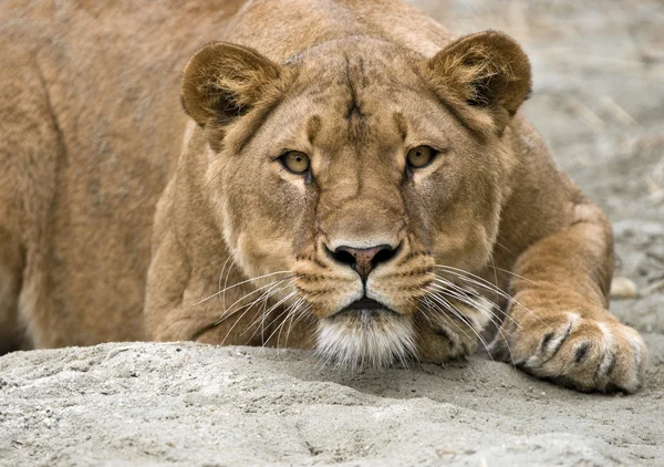
[[[15,353],[0,360],[0,464],[635,465],[664,459],[664,338],[647,343],[635,396],[480,359],[349,375],[307,352],[190,343]]]

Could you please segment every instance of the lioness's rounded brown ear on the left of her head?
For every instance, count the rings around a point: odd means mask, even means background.
[[[225,125],[269,98],[282,74],[253,49],[212,42],[185,68],[183,107],[203,127]]]

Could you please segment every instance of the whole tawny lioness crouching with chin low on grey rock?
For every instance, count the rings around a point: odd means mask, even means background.
[[[0,7],[3,352],[195,340],[381,366],[481,343],[640,386],[610,226],[519,114],[512,39],[398,0],[198,3]]]

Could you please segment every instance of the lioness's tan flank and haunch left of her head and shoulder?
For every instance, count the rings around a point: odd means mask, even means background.
[[[4,345],[144,339],[154,210],[187,121],[179,71],[232,12],[179,4],[3,2],[0,231],[18,255],[0,263],[21,282],[0,298]]]

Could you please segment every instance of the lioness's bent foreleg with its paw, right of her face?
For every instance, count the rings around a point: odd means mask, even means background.
[[[608,311],[613,239],[598,207],[577,205],[571,225],[532,245],[513,272],[495,355],[581,391],[640,387],[646,349]]]

